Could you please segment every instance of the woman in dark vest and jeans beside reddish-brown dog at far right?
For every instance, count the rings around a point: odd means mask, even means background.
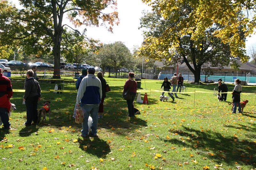
[[[237,78],[235,82],[236,82],[236,86],[232,92],[232,102],[234,104],[232,113],[236,113],[236,106],[238,106],[238,113],[241,113],[242,112],[241,104],[240,104],[240,93],[242,92],[241,80]]]

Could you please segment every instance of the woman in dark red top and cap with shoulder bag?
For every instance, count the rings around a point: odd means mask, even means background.
[[[128,78],[129,80],[126,80],[124,84],[124,91],[129,90],[131,98],[129,100],[126,100],[127,102],[127,107],[128,107],[128,112],[129,112],[129,117],[134,116],[134,107],[133,107],[133,101],[136,97],[136,92],[137,92],[137,82],[133,80],[134,78],[134,73],[129,72],[128,73]]]

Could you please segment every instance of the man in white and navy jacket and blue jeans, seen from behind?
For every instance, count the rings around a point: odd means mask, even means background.
[[[84,77],[79,86],[76,104],[81,109],[84,114],[84,122],[82,123],[82,137],[87,137],[88,135],[88,118],[91,114],[92,117],[92,136],[97,136],[97,126],[98,126],[98,110],[100,106],[100,100],[102,97],[101,82],[100,79],[95,75],[95,68],[90,67],[88,69],[88,75]]]

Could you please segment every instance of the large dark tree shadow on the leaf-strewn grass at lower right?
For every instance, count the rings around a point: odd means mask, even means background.
[[[179,140],[178,138],[163,139],[169,144],[177,144],[179,146],[194,148],[201,150],[200,154],[204,157],[209,157],[207,153],[214,153],[211,159],[220,163],[220,160],[226,161],[229,165],[234,165],[234,162],[239,164],[246,163],[247,165],[256,167],[255,164],[255,152],[252,148],[255,147],[255,143],[248,140],[239,140],[235,135],[232,137],[224,137],[218,132],[200,131],[197,129],[182,126],[185,130],[171,130],[171,133],[178,133],[186,142]],[[206,148],[208,148],[206,150]],[[254,156],[253,156],[254,155]]]

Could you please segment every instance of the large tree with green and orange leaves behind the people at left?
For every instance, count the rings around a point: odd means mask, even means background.
[[[24,9],[18,10],[8,1],[0,1],[1,10],[4,9],[0,12],[0,46],[16,42],[26,54],[40,55],[52,51],[54,75],[60,75],[65,27],[75,30],[63,24],[64,16],[68,16],[75,27],[99,26],[100,23],[106,26],[108,23],[108,30],[112,31],[112,26],[118,24],[115,0],[20,0],[20,4]],[[107,7],[111,7],[113,12],[104,13]]]

